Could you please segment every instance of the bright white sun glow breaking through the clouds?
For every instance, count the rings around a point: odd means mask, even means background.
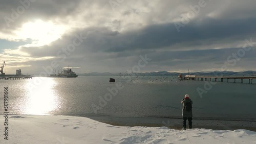
[[[26,46],[41,46],[57,40],[64,32],[64,26],[55,25],[53,22],[36,20],[25,23],[15,33],[19,39],[32,39],[32,44],[27,44]]]

